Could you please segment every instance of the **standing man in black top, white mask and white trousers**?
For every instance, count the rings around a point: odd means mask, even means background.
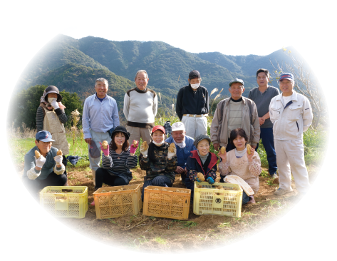
[[[176,112],[184,123],[186,135],[195,138],[207,135],[208,91],[200,86],[199,71],[191,71],[187,86],[180,88],[177,95]]]

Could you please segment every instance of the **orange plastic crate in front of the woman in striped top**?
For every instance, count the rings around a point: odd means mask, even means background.
[[[117,191],[124,188],[123,191]],[[102,190],[107,192],[101,193]],[[99,188],[93,193],[97,219],[137,215],[142,209],[140,184]]]

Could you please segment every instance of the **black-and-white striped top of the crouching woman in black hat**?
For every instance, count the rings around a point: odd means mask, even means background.
[[[105,156],[103,153],[102,165],[105,170],[108,170],[110,175],[116,175],[129,183],[133,179],[130,168],[135,168],[138,163],[136,155],[131,156],[130,150],[122,151],[118,154],[115,150],[110,149],[110,155]]]

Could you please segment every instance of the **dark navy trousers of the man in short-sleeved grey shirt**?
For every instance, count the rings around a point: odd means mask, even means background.
[[[276,173],[277,170],[273,128],[260,128],[260,130],[260,137],[264,145],[264,149],[266,150],[266,159],[268,160],[269,174],[273,175]],[[257,151],[258,148],[259,143],[257,143],[255,150]]]

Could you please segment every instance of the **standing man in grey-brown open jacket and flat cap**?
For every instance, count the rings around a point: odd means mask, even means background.
[[[229,83],[230,98],[225,98],[217,104],[211,125],[211,140],[215,150],[222,146],[226,151],[235,148],[230,142],[230,133],[236,128],[243,128],[252,148],[260,140],[259,116],[254,101],[242,96],[244,81],[236,78]]]

